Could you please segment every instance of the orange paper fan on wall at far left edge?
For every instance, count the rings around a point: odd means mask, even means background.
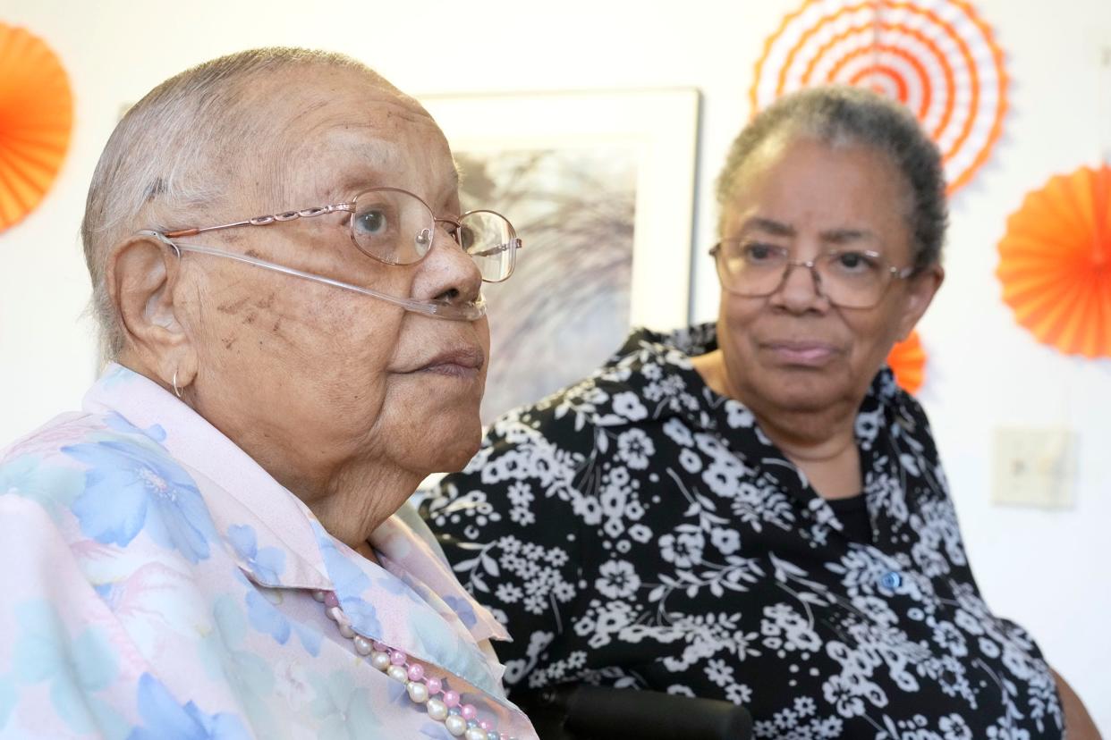
[[[73,97],[40,39],[0,23],[0,231],[39,204],[61,166]]]

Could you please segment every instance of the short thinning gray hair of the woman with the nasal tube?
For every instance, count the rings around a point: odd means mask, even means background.
[[[293,67],[354,70],[400,97],[350,57],[272,47],[213,59],[170,78],[116,126],[93,172],[81,222],[92,281],[90,310],[106,358],[117,357],[124,342],[119,312],[104,283],[112,245],[139,229],[180,226],[174,220],[218,210],[229,186],[249,175],[246,161],[259,154],[254,142],[272,140],[288,123],[259,114],[260,99],[251,84]]]

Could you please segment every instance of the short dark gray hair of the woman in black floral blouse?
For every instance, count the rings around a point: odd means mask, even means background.
[[[949,225],[941,152],[904,105],[862,88],[809,88],[784,95],[757,114],[733,141],[718,176],[718,205],[733,197],[749,156],[778,136],[815,139],[831,146],[868,146],[885,154],[910,186],[907,219],[914,267],[941,261]]]

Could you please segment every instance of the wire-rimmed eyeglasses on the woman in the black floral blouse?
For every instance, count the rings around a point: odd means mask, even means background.
[[[894,267],[882,254],[868,250],[827,252],[813,260],[792,260],[785,246],[745,240],[722,240],[710,250],[721,286],[747,297],[772,295],[794,267],[807,267],[814,290],[842,308],[871,308],[895,280],[914,274],[914,267]]]

